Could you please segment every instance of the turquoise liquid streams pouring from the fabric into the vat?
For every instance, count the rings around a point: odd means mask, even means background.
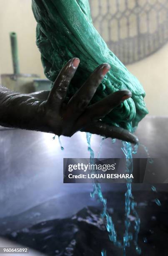
[[[94,152],[93,149],[91,148],[90,145],[90,139],[91,139],[91,134],[86,133],[86,138],[87,138],[87,143],[88,143],[88,151],[90,152],[90,164],[94,164]],[[103,138],[104,139],[104,138]],[[114,143],[115,140],[112,140],[112,143]],[[98,156],[100,157],[100,152],[101,152],[101,147],[102,147],[102,141],[100,143],[100,150],[98,153]],[[132,159],[132,154],[136,154],[138,150],[138,145],[132,148],[131,144],[128,142],[123,142],[123,148],[122,148],[125,158],[126,158],[126,173],[131,174],[133,172],[133,159]],[[107,200],[103,197],[102,191],[101,191],[101,186],[95,179],[93,182],[93,192],[90,193],[91,197],[95,197],[97,195],[98,202],[103,202],[103,212],[101,214],[102,218],[105,218],[106,220],[106,229],[109,234],[110,241],[114,243],[115,246],[118,246],[120,248],[123,248],[123,256],[126,255],[126,247],[130,246],[130,241],[133,240],[134,245],[135,245],[135,251],[137,254],[141,253],[141,249],[138,246],[138,233],[140,229],[140,218],[138,216],[137,211],[135,210],[136,207],[136,202],[134,201],[133,195],[132,195],[132,187],[131,187],[131,182],[132,180],[128,180],[127,182],[127,192],[125,193],[125,233],[123,235],[123,244],[121,241],[118,241],[117,239],[117,232],[115,230],[115,225],[113,223],[112,218],[108,214],[108,209],[107,209]],[[135,216],[135,233],[134,233],[134,238],[133,234],[129,232],[130,228],[130,220],[129,220],[129,215],[130,212],[133,212],[133,215]],[[103,249],[101,252],[102,256],[106,256],[106,251]]]

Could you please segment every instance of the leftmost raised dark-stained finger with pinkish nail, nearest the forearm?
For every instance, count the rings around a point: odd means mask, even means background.
[[[68,61],[60,71],[54,82],[53,88],[48,95],[47,103],[50,108],[53,108],[58,112],[60,111],[63,101],[67,95],[68,86],[78,68],[79,63],[80,60],[78,58],[70,59],[70,61]]]

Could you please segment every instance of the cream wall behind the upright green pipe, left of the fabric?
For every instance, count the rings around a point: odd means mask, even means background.
[[[9,33],[18,34],[20,72],[43,74],[31,0],[0,0],[0,73],[13,73]]]

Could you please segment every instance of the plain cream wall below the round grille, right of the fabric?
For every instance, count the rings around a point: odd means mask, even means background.
[[[168,44],[127,68],[143,84],[150,115],[168,115]]]

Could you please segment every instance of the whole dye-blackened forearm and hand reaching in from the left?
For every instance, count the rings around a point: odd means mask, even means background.
[[[95,69],[83,86],[65,104],[68,85],[79,63],[78,58],[68,61],[50,92],[20,94],[0,86],[0,125],[49,132],[59,136],[72,136],[76,131],[82,130],[137,143],[138,139],[132,133],[101,122],[103,116],[131,97],[130,91],[117,91],[89,105],[100,82],[110,70],[109,64],[104,63]]]

